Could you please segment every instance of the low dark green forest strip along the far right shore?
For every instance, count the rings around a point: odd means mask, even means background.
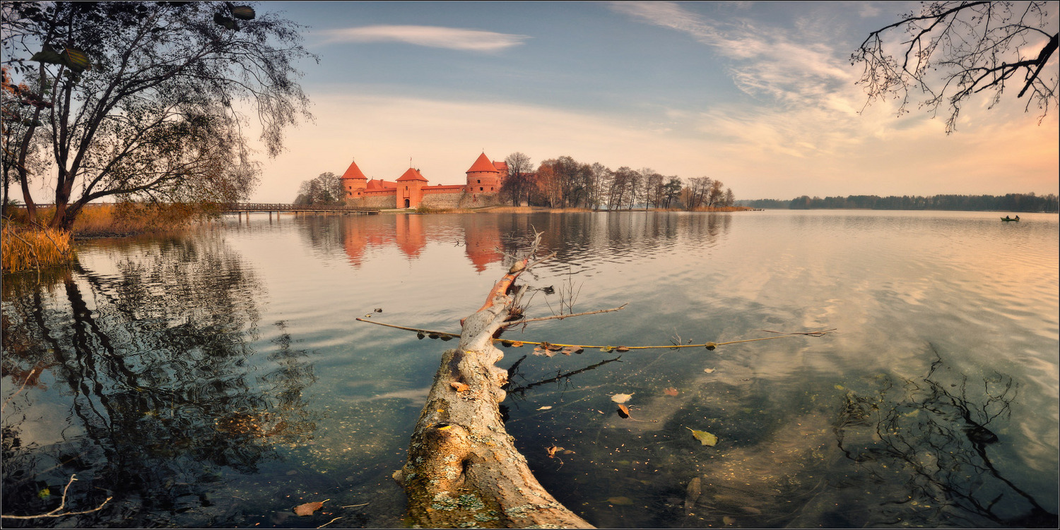
[[[820,208],[861,208],[861,209],[954,209],[964,212],[1060,212],[1060,198],[1055,194],[1035,195],[1008,194],[997,195],[934,195],[920,196],[888,196],[850,195],[847,197],[809,197],[802,196],[790,201],[779,199],[757,199],[736,201],[737,205],[753,208],[772,209],[820,209]]]

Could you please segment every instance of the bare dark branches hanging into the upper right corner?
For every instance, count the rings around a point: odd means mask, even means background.
[[[1052,5],[1050,5],[1052,4]],[[1029,94],[1025,110],[1034,105],[1039,122],[1057,103],[1057,62],[1045,70],[1057,50],[1057,20],[1047,8],[1055,2],[932,2],[918,12],[869,33],[851,65],[863,62],[859,84],[868,94],[866,106],[877,99],[901,99],[902,115],[911,98],[937,115],[949,112],[947,134],[956,129],[961,105],[985,92],[990,107],[1001,100],[1006,81],[1014,76],[1020,92]],[[906,39],[888,43],[894,30]],[[1045,71],[1043,71],[1045,70]]]

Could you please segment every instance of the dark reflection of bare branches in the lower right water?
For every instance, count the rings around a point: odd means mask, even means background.
[[[991,461],[1000,441],[992,430],[1009,419],[1019,394],[1012,378],[970,382],[935,355],[922,379],[884,379],[876,394],[848,392],[836,421],[847,458],[878,485],[903,483],[891,492],[895,519],[878,523],[1056,528],[1057,515]]]

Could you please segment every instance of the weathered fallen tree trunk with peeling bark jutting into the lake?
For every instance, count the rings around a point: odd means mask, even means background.
[[[526,286],[514,282],[532,267],[529,259],[494,286],[487,304],[463,321],[459,347],[442,354],[408,461],[394,473],[420,526],[593,528],[537,482],[498,408],[508,371],[495,366],[504,353],[492,339],[518,312]]]

